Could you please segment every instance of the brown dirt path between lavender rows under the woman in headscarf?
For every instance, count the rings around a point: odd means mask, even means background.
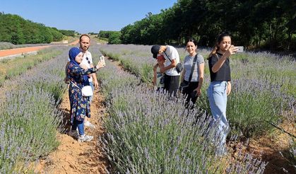
[[[91,118],[89,121],[95,124],[95,129],[85,127],[86,134],[94,136],[93,141],[78,143],[76,139],[67,134],[58,134],[61,144],[57,150],[49,153],[37,165],[37,173],[106,173],[107,160],[98,150],[97,139],[102,134],[100,118],[105,113],[102,105],[102,95],[95,90],[93,103],[91,104]],[[60,106],[64,110],[66,119],[69,119],[69,96],[68,91],[64,94]],[[69,125],[67,125],[69,129]]]

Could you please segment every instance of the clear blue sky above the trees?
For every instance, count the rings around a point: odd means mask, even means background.
[[[160,13],[177,0],[1,0],[0,11],[17,14],[35,23],[79,33],[120,30]]]

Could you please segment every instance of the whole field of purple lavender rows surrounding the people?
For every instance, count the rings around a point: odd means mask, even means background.
[[[66,91],[69,48],[54,49],[61,54],[3,83],[11,87],[5,88],[0,103],[0,173],[32,171],[33,161],[59,145],[56,134],[65,122],[58,108]],[[94,62],[105,54],[122,65],[121,69],[107,60],[97,74],[107,110],[102,120],[105,134],[98,143],[109,160],[110,173],[264,173],[267,163],[251,153],[239,150],[233,158],[230,149],[223,158],[215,156],[215,139],[220,135],[215,127],[208,129],[207,66],[203,94],[189,110],[184,96],[169,100],[151,86],[155,60],[150,46],[94,45],[90,52]],[[178,52],[184,59],[184,48]],[[199,51],[205,58],[208,52]],[[248,52],[231,60],[230,142],[266,134],[273,129],[271,122],[295,122],[294,59]],[[291,154],[295,156],[295,151]]]

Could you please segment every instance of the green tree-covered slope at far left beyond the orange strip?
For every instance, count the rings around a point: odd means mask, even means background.
[[[0,12],[0,42],[13,44],[50,43],[63,40],[64,35],[74,35],[73,30],[58,30],[42,23],[25,20],[18,15]]]

